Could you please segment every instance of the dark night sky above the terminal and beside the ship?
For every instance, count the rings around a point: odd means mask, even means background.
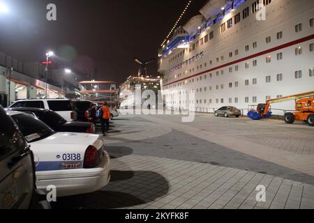
[[[0,52],[21,61],[42,61],[47,49],[73,70],[96,68],[96,79],[124,82],[137,74],[133,61],[157,58],[188,0],[0,0]],[[197,15],[207,0],[194,0],[182,20]],[[57,5],[57,22],[47,22],[47,3]],[[64,60],[66,59],[66,60]],[[61,62],[60,62],[61,61]],[[149,67],[157,73],[157,63]]]

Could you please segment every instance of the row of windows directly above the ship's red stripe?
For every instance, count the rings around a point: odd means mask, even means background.
[[[311,24],[311,26],[313,26],[313,19],[311,19],[310,21],[312,21],[312,22],[310,22],[310,24]],[[298,30],[298,31],[302,30],[302,24],[301,23],[296,26],[296,30]],[[277,40],[280,40],[281,38],[283,38],[283,31],[278,32],[276,34],[276,36],[277,36]],[[267,36],[266,43],[267,44],[271,43],[271,36]],[[253,43],[253,49],[256,49],[256,48],[257,48],[257,42],[254,42]],[[245,50],[246,50],[246,52],[248,52],[250,50],[250,46],[246,45]],[[310,51],[313,52],[313,44],[310,45]],[[297,52],[297,49],[296,49],[296,52]],[[234,51],[234,54],[236,56],[238,56],[239,55],[239,49],[236,49]],[[230,52],[229,57],[232,58],[232,56],[233,56],[233,52]],[[204,58],[204,52],[201,52],[200,54],[197,54],[196,56],[191,57],[189,60],[186,60],[185,62],[180,63],[178,66],[171,68],[170,72],[174,72],[175,70],[179,70],[185,66],[188,66],[190,63],[193,63],[194,61],[198,61],[199,59],[202,59],[202,58]],[[219,63],[219,61],[224,61],[224,58],[225,58],[224,56],[220,56],[220,58],[217,57],[216,62]],[[267,63],[269,63],[269,61],[267,61]],[[212,65],[213,61],[209,61],[209,64]],[[204,63],[204,67],[207,67],[207,63]],[[180,77],[180,76],[181,76],[181,74],[177,75],[177,77]],[[174,78],[176,78],[176,77],[174,77]],[[165,79],[165,82],[170,81],[171,79],[173,79],[173,78],[170,77],[169,79]]]

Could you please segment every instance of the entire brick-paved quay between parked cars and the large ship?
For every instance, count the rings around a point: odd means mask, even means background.
[[[121,117],[105,137],[110,185],[59,199],[54,207],[314,209],[314,157],[287,150],[309,146],[309,130],[204,114],[193,123],[177,116]],[[267,187],[266,202],[256,201],[257,185]]]

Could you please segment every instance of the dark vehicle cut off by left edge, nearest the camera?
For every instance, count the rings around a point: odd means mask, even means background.
[[[49,209],[45,194],[36,189],[33,152],[1,106],[0,120],[0,209]]]

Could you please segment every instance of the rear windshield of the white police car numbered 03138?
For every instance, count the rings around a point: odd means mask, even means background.
[[[29,114],[17,114],[12,118],[28,142],[45,139],[55,133],[48,125]]]

